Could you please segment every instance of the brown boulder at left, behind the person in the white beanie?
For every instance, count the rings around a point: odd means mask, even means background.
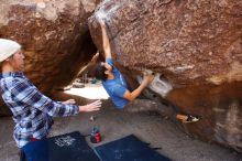
[[[95,54],[87,25],[95,7],[96,0],[0,0],[0,37],[23,45],[25,74],[42,92],[68,85]]]

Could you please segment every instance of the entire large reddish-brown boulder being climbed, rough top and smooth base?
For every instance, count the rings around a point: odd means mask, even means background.
[[[114,60],[128,71],[162,74],[163,95],[183,112],[202,116],[185,129],[242,151],[242,2],[237,0],[105,0],[89,19],[108,25]]]

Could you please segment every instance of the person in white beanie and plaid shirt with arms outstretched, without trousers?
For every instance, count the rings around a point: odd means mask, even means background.
[[[99,110],[101,101],[85,106],[74,105],[75,100],[53,101],[44,96],[23,75],[24,55],[21,45],[14,41],[0,39],[0,93],[13,114],[15,122],[13,138],[19,148],[28,142],[46,138],[52,117],[75,116],[80,111]]]

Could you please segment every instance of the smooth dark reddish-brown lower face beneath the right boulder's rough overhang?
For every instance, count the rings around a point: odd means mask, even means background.
[[[180,111],[201,116],[185,129],[204,140],[213,140],[242,151],[242,84],[190,86],[172,90],[167,98]]]

